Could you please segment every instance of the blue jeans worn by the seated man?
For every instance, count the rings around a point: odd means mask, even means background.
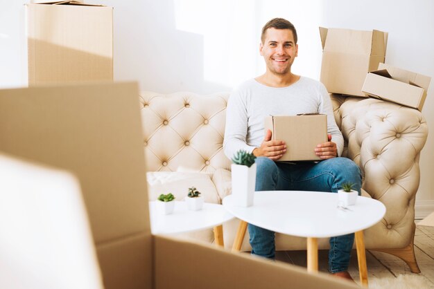
[[[353,189],[361,194],[362,176],[358,166],[349,158],[331,158],[318,163],[301,162],[297,165],[274,162],[259,157],[256,191],[297,190],[338,192],[342,183],[354,183]],[[275,258],[275,232],[248,225],[252,254]],[[330,238],[329,271],[348,270],[354,234]]]

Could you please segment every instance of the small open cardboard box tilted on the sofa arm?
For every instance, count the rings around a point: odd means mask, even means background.
[[[362,91],[380,100],[388,100],[422,111],[431,77],[379,64],[367,73]]]

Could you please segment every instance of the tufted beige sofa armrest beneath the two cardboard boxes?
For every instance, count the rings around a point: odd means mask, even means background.
[[[414,226],[419,153],[428,136],[426,121],[416,109],[372,98],[347,97],[339,110],[347,157],[361,168],[363,189],[387,209],[383,221],[368,231],[389,230],[397,248],[404,247],[413,235],[409,231]]]

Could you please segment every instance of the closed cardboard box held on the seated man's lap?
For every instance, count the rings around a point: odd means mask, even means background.
[[[264,127],[270,129],[272,140],[284,140],[287,146],[279,161],[321,160],[314,150],[327,142],[327,115],[270,115]]]

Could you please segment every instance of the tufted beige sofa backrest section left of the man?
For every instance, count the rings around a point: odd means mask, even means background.
[[[229,93],[140,93],[148,171],[230,169],[223,153]]]

